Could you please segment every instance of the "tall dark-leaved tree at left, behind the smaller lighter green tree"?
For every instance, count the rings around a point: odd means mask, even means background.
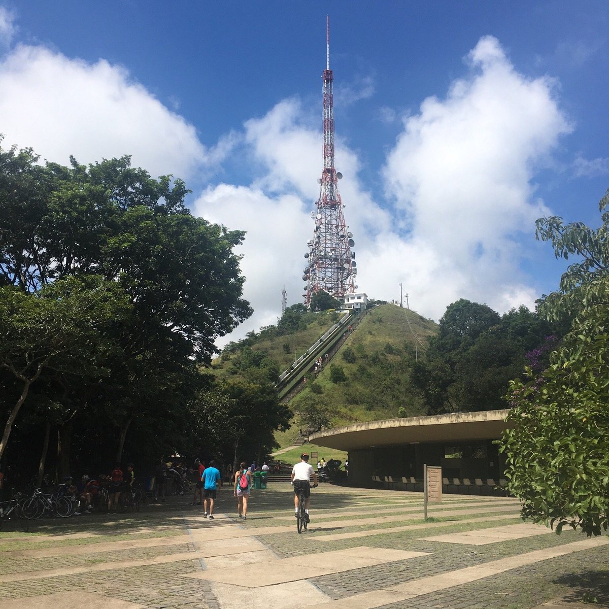
[[[116,454],[138,424],[163,444],[181,433],[194,363],[208,364],[217,337],[251,314],[233,251],[244,233],[193,217],[181,180],[153,179],[129,157],[89,166],[72,158],[68,167],[38,161],[30,149],[0,148],[0,286],[35,298],[61,280],[100,276],[130,305],[128,319],[104,328],[101,338],[118,349],[103,382],[41,372],[49,400],[70,412],[69,421],[53,418],[62,451],[72,428],[82,437],[103,430]],[[12,399],[7,378],[0,391]]]

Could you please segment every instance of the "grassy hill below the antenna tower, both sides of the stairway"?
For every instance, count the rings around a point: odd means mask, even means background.
[[[277,326],[228,345],[213,362],[214,373],[251,380],[266,375],[269,366],[283,371],[339,319],[336,312],[287,313]],[[294,442],[303,426],[298,413],[307,409],[327,413],[331,426],[424,414],[410,385],[410,369],[437,329],[431,320],[396,305],[371,309],[332,361],[317,378],[309,376],[305,390],[290,402],[292,429],[275,434],[278,445]]]

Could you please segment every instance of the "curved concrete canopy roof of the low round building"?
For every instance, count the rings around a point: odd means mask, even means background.
[[[311,434],[309,442],[350,451],[418,442],[495,440],[508,428],[504,420],[508,412],[509,410],[483,410],[368,421]]]

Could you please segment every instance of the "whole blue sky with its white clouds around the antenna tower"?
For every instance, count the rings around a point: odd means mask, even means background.
[[[532,306],[565,268],[534,220],[596,226],[609,186],[607,2],[0,0],[3,145],[185,178],[248,231],[242,336],[301,301],[326,14],[359,289]]]

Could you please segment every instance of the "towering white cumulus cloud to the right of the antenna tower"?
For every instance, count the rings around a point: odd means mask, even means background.
[[[460,297],[499,310],[532,305],[519,238],[549,210],[531,179],[571,131],[554,81],[519,74],[496,38],[481,38],[467,63],[444,99],[429,97],[404,120],[384,168],[387,195],[409,224],[403,247],[395,238],[392,246],[404,256],[401,281],[435,319]],[[386,249],[379,244],[379,262],[390,262]]]

